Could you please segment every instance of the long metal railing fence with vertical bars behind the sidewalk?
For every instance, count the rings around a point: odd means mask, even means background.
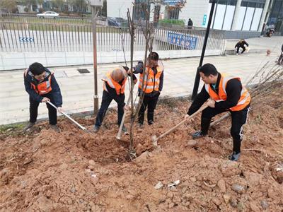
[[[105,21],[105,20],[98,20]],[[130,49],[128,28],[98,25],[97,49],[101,52],[122,51],[122,40],[125,51]],[[1,52],[91,52],[91,24],[57,24],[0,22]],[[204,29],[156,28],[154,49],[180,50],[202,49]],[[207,49],[221,49],[224,31],[211,30]],[[144,50],[145,40],[142,28],[135,30],[134,49]]]

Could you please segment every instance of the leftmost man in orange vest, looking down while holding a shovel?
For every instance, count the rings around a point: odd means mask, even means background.
[[[54,74],[40,63],[33,63],[23,75],[25,90],[30,96],[30,122],[24,131],[35,125],[37,109],[40,102],[46,102],[50,128],[59,132],[57,126],[57,110],[47,102],[52,102],[62,111],[62,95]]]

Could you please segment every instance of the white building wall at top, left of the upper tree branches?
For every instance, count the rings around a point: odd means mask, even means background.
[[[107,0],[107,16],[127,19],[128,8],[132,16],[132,2],[131,0]]]

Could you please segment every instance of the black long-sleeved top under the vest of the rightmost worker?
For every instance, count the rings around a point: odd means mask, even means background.
[[[215,93],[219,93],[219,82],[221,79],[221,73],[218,74],[217,82],[215,89],[213,86],[210,84],[210,88],[215,91]],[[238,79],[233,78],[227,82],[226,85],[226,93],[227,93],[227,99],[226,101],[220,101],[220,102],[215,102],[215,108],[219,110],[229,110],[229,108],[234,107],[237,105],[238,100],[241,98],[241,91],[242,91],[242,83],[238,81]],[[199,94],[197,94],[197,97],[195,100],[192,102],[192,105],[189,108],[189,111],[187,114],[191,115],[197,110],[202,107],[205,101],[207,101],[209,98],[209,93],[207,93],[207,90],[205,90],[204,86],[202,87],[202,90],[200,91]]]

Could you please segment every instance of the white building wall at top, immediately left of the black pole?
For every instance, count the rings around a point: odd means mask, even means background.
[[[179,19],[185,19],[185,24],[187,25],[187,20],[191,18],[194,26],[204,27],[202,25],[204,14],[207,14],[207,22],[209,18],[209,13],[207,13],[208,6],[209,0],[188,0],[179,13]]]

